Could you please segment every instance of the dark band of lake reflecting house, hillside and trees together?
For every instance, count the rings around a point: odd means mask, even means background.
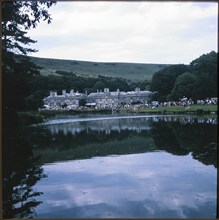
[[[102,119],[102,120],[101,120]],[[104,119],[104,120],[103,120]],[[73,120],[73,121],[72,121]],[[164,150],[217,167],[217,118],[194,116],[123,116],[53,119],[39,127],[36,153],[43,162]]]

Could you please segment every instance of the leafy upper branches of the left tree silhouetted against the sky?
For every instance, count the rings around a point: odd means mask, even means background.
[[[52,1],[4,1],[2,3],[2,48],[4,55],[23,54],[36,50],[25,47],[36,41],[28,37],[27,31],[41,21],[51,22],[46,10]]]

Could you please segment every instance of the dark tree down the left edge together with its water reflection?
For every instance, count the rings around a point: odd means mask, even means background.
[[[32,154],[32,145],[25,134],[18,132],[17,111],[25,107],[28,81],[39,73],[39,67],[27,55],[36,41],[27,36],[41,20],[51,22],[47,11],[52,1],[4,1],[2,14],[3,70],[3,217],[33,217],[33,208],[40,204],[33,186],[45,177]]]

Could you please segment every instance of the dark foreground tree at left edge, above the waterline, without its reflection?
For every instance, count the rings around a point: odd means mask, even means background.
[[[30,95],[29,81],[39,74],[39,67],[27,54],[36,50],[28,46],[36,41],[27,31],[41,21],[51,22],[47,8],[51,1],[4,1],[2,3],[2,64],[3,64],[3,113],[26,109]],[[19,55],[19,56],[18,56]],[[29,97],[31,100],[31,97]],[[29,101],[30,101],[29,100]],[[6,114],[7,115],[7,114]]]

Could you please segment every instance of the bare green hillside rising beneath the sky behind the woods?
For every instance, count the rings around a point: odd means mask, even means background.
[[[41,74],[44,76],[58,75],[56,71],[73,72],[77,76],[121,77],[131,81],[151,79],[153,74],[162,69],[166,64],[140,64],[140,63],[110,63],[87,62],[77,60],[61,60],[49,58],[30,57],[38,66],[43,67]]]

